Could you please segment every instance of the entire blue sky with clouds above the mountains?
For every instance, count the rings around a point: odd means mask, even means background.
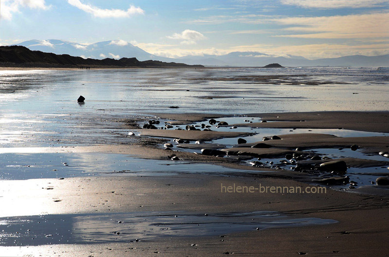
[[[32,39],[118,40],[173,58],[373,56],[389,54],[389,0],[0,0],[0,45]]]

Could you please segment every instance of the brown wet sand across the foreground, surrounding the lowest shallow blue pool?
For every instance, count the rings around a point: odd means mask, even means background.
[[[4,255],[34,256],[224,256],[249,255],[381,256],[388,251],[388,196],[343,193],[222,193],[223,185],[301,186],[288,179],[265,177],[90,177],[1,181],[2,206],[21,208],[4,214],[117,213],[133,211],[185,210],[205,214],[217,212],[279,211],[293,218],[334,219],[332,225],[269,228],[205,237],[159,237],[135,242],[100,244],[56,244],[1,247]],[[20,191],[20,188],[24,191]],[[47,188],[53,188],[47,190]],[[4,195],[4,192],[7,194]],[[60,200],[60,201],[58,201]],[[25,207],[28,208],[25,208]],[[42,224],[43,225],[43,224]],[[43,225],[44,226],[44,225]],[[25,229],[28,229],[26,225]],[[109,233],[109,229],[107,231]],[[223,237],[220,237],[223,236]],[[194,246],[192,246],[194,244]]]

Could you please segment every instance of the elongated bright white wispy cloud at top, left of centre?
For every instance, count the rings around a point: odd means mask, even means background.
[[[92,14],[99,18],[123,18],[129,17],[135,14],[144,14],[144,11],[140,7],[130,5],[127,10],[120,9],[101,9],[90,4],[84,4],[80,0],[68,0],[68,3],[83,10],[86,13]]]

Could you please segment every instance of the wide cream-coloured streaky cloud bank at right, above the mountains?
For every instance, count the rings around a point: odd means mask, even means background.
[[[290,26],[286,31],[299,34],[278,35],[300,38],[377,38],[389,36],[389,13],[347,16],[287,17],[272,22]],[[379,24],[378,24],[379,23]],[[305,32],[301,34],[301,32]]]

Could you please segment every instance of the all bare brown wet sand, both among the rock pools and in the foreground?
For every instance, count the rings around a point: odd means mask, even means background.
[[[177,124],[202,121],[216,114],[155,114]],[[250,114],[262,120],[283,120],[250,123],[242,126],[268,128],[347,128],[362,131],[388,132],[388,112],[309,112]],[[278,116],[278,117],[277,117]],[[286,120],[286,121],[285,121]],[[300,121],[304,120],[304,121]],[[280,127],[281,126],[281,127]],[[153,137],[182,137],[188,140],[211,140],[220,137],[238,137],[236,132],[186,131],[162,129],[135,129]],[[254,154],[285,155],[299,153],[296,147],[350,147],[357,144],[364,150],[377,153],[387,149],[387,137],[341,138],[322,134],[279,135],[281,140],[264,143],[276,148],[228,148],[226,151],[246,151]],[[193,143],[193,142],[192,142]],[[258,143],[258,142],[257,142]],[[193,144],[194,145],[194,144]],[[185,146],[185,145],[184,145]],[[14,149],[17,151],[17,149]],[[10,150],[12,151],[12,149]],[[23,151],[23,150],[19,150]],[[172,151],[149,143],[136,145],[97,145],[76,147],[47,147],[36,151],[126,153],[145,159],[168,159]],[[272,152],[272,153],[270,153]],[[234,168],[239,163],[222,157],[191,152],[174,152],[180,160],[201,161]],[[368,165],[358,160],[347,160],[352,165]],[[269,229],[253,228],[247,232],[217,236],[157,237],[140,241],[99,244],[54,244],[41,246],[0,247],[1,255],[34,256],[224,256],[225,254],[293,256],[385,255],[389,220],[389,188],[371,186],[342,192],[326,187],[326,193],[227,193],[225,186],[316,187],[304,174],[293,171],[271,170],[264,167],[244,167],[252,172],[219,175],[179,174],[159,177],[82,177],[64,179],[30,179],[0,181],[0,205],[13,206],[1,211],[2,217],[71,214],[71,213],[128,213],[140,211],[186,211],[197,214],[236,213],[249,211],[277,211],[293,218],[332,219],[337,223]],[[301,178],[302,177],[302,178]],[[304,180],[305,179],[305,180]],[[20,190],[23,189],[23,190]],[[334,188],[336,189],[336,188]],[[351,193],[353,192],[353,193]],[[44,226],[44,224],[42,224]],[[27,229],[27,227],[26,227]],[[111,231],[106,231],[108,234]],[[223,236],[223,237],[220,237]]]

